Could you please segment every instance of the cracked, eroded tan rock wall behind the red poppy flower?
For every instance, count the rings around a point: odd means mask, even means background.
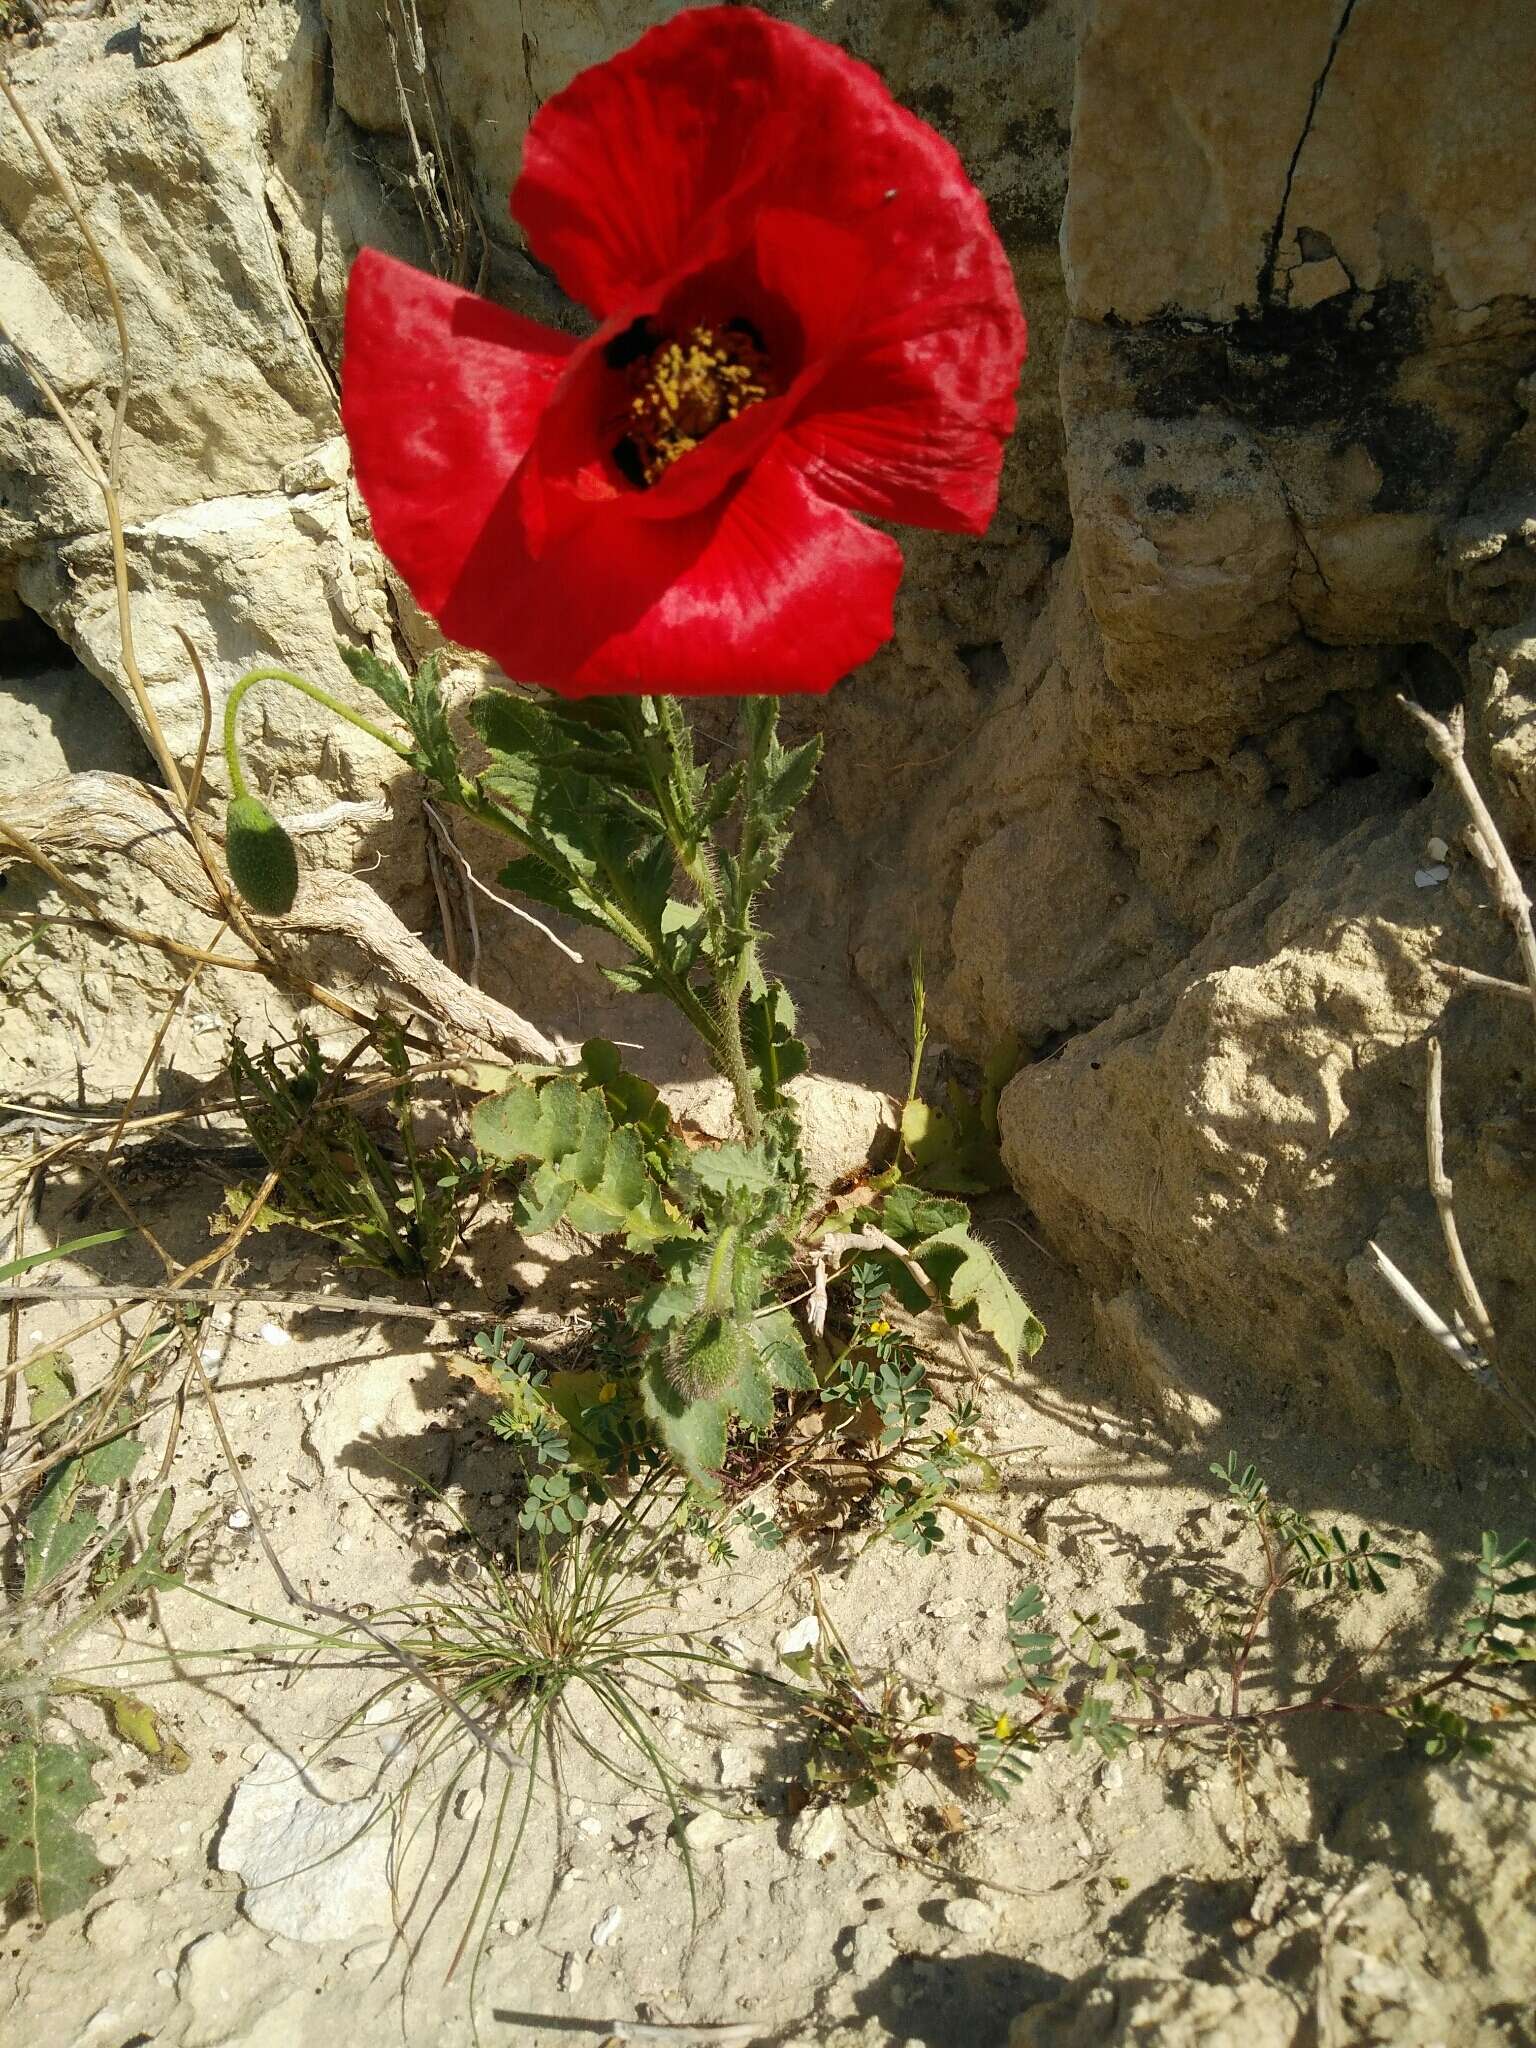
[[[1464,1229],[1530,1350],[1528,1028],[1436,967],[1511,954],[1395,698],[1466,696],[1530,854],[1536,16],[1305,0],[1278,27],[1192,0],[1171,35],[1135,0],[776,10],[961,147],[1032,338],[991,532],[909,537],[893,645],[793,709],[829,745],[786,940],[846,954],[899,1036],[922,938],[944,1034],[971,1055],[1020,1036],[1012,1174],[1092,1278],[1126,1389],[1184,1434],[1241,1376],[1425,1454],[1495,1440],[1364,1245],[1448,1300],[1419,1139],[1438,1030]],[[346,266],[367,242],[578,324],[506,211],[520,137],[670,12],[147,0],[16,51],[119,266],[139,655],[184,758],[176,625],[215,709],[258,659],[346,688],[338,635],[430,641],[338,438]],[[0,268],[8,319],[104,444],[111,324],[14,125]],[[100,504],[10,358],[4,379],[4,604],[117,688]],[[430,924],[391,764],[291,696],[252,700],[250,754],[281,813],[358,805],[313,856],[377,858]],[[1450,877],[1419,885],[1442,840]],[[590,965],[526,934],[498,932],[483,973],[602,1022]],[[827,1067],[889,1081],[848,1047]]]

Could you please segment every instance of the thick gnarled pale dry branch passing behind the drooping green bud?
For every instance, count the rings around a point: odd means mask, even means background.
[[[2,829],[27,858],[41,856],[49,874],[61,872],[57,856],[117,854],[147,868],[203,915],[217,918],[223,909],[170,801],[131,776],[76,774],[10,797]],[[281,979],[348,1022],[367,1022],[301,971],[303,954],[324,938],[356,946],[385,985],[424,1010],[444,1036],[561,1065],[559,1049],[537,1024],[453,975],[356,874],[311,868],[289,915],[264,920],[264,942]]]

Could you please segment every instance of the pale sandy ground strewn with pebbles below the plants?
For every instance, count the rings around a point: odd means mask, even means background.
[[[145,1176],[133,1194],[170,1251],[205,1241],[219,1198],[184,1167]],[[53,1190],[55,1217],[70,1196]],[[90,1204],[72,1204],[70,1229],[94,1219]],[[1178,1669],[1192,1655],[1192,1589],[1239,1554],[1206,1470],[1235,1446],[1294,1505],[1366,1520],[1419,1561],[1384,1599],[1346,1616],[1327,1610],[1313,1649],[1294,1614],[1282,1614],[1262,1690],[1288,1694],[1296,1659],[1315,1675],[1339,1640],[1389,1632],[1389,1663],[1413,1640],[1444,1642],[1470,1571],[1458,1563],[1442,1573],[1430,1559],[1464,1559],[1485,1522],[1507,1522],[1509,1501],[1530,1499],[1528,1475],[1462,1483],[1356,1460],[1290,1438],[1272,1415],[1262,1425],[1227,1415],[1217,1438],[1176,1450],[1104,1397],[1087,1305],[1018,1223],[999,1206],[987,1235],[1049,1341],[1018,1380],[985,1374],[985,1442],[1008,1452],[1006,1485],[975,1505],[1042,1556],[954,1528],[926,1559],[860,1534],[793,1538],[772,1554],[741,1544],[739,1563],[717,1569],[694,1546],[676,1583],[680,1626],[717,1636],[741,1669],[782,1669],[774,1640],[813,1612],[815,1575],[860,1665],[891,1665],[918,1692],[958,1696],[938,1716],[954,1733],[965,1731],[958,1700],[1001,1679],[1004,1606],[1030,1577],[1061,1610],[1120,1612]],[[502,1245],[494,1233],[492,1243]],[[119,1253],[94,1255],[92,1274],[125,1272]],[[498,1290],[506,1298],[516,1280],[532,1315],[541,1288],[547,1300],[569,1292],[559,1264],[545,1274],[524,1257],[514,1270],[504,1245],[498,1257],[500,1274],[461,1276],[463,1300],[496,1313]],[[287,1233],[262,1241],[248,1280],[334,1284]],[[74,1307],[37,1305],[23,1341],[47,1346],[76,1319]],[[444,1370],[463,1329],[432,1325],[424,1341],[426,1327],[248,1307],[209,1333],[209,1372],[252,1505],[293,1577],[322,1599],[377,1608],[449,1589],[473,1571],[451,1509],[489,1542],[506,1536],[512,1454]],[[94,1341],[104,1364],[104,1339]],[[88,1372],[84,1348],[76,1364]],[[1253,1366],[1260,1374],[1262,1360]],[[164,1409],[152,1448],[168,1421]],[[446,1505],[412,1489],[401,1466],[428,1477]],[[186,1407],[170,1473],[178,1522],[207,1511],[197,1579],[225,1602],[281,1616],[281,1589],[199,1401]],[[176,1729],[190,1767],[166,1776],[111,1749],[92,1819],[117,1868],[82,1919],[12,1929],[14,1980],[0,1993],[8,2042],[276,2048],[344,2036],[446,2048],[469,2042],[477,2023],[483,2040],[555,2048],[600,2042],[616,2021],[750,2021],[750,2034],[725,2040],[928,2048],[1001,2048],[1014,2023],[1020,2042],[1038,2044],[1536,2040],[1532,1741],[1425,1769],[1380,1729],[1329,1716],[1296,1722],[1284,1743],[1243,1759],[1151,1745],[1118,1763],[1053,1751],[1008,1806],[913,1769],[874,1806],[793,1821],[797,1759],[770,1710],[705,1712],[655,1698],[653,1724],[696,1788],[688,1810],[709,1815],[690,1829],[696,1919],[662,1794],[625,1788],[567,1749],[563,1800],[535,1800],[471,1999],[469,1962],[451,1978],[446,1970],[479,1876],[477,1845],[483,1860],[496,1767],[483,1804],[471,1772],[432,1825],[410,1843],[395,1837],[393,1858],[381,1823],[342,1855],[311,1858],[299,1892],[281,1882],[248,1890],[240,1855],[256,1853],[252,1827],[229,1812],[254,1772],[291,1786],[303,1765],[313,1794],[338,1804],[367,1802],[412,1761],[391,1718],[344,1729],[377,1675],[326,1659],[305,1669],[291,1657],[291,1669],[201,1661],[258,1638],[276,1640],[170,1593],[121,1632],[80,1645],[78,1663],[111,1663],[123,1683],[131,1659],[156,1659],[133,1679]],[[1210,1690],[1194,1679],[1190,1698]],[[76,1724],[100,1737],[92,1710],[76,1706]],[[262,1833],[258,1817],[254,1837]],[[293,1931],[326,1937],[272,1931],[295,1913]]]

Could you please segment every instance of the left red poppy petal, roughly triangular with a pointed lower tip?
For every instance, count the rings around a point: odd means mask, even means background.
[[[575,338],[362,250],[342,422],[379,547],[438,616],[526,455]]]

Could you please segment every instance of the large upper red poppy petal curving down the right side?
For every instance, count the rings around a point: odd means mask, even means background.
[[[985,528],[1024,317],[958,156],[872,70],[754,8],[692,8],[539,111],[512,211],[600,313],[756,244],[827,352],[793,434],[817,489]]]

